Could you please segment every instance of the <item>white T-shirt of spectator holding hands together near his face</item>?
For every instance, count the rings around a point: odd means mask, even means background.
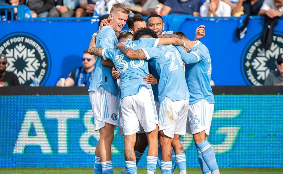
[[[209,11],[208,5],[209,3],[205,3],[200,7],[199,13],[201,17],[207,17],[207,13]],[[217,8],[215,13],[218,17],[231,17],[232,9],[227,3],[219,1],[219,7]],[[211,17],[213,17],[212,13]]]

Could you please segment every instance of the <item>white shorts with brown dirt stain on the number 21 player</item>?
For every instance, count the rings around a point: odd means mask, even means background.
[[[189,99],[172,101],[165,97],[159,108],[159,131],[173,138],[174,134],[186,134],[186,122],[189,110]]]

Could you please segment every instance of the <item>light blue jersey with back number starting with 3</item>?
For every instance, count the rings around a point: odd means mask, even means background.
[[[156,46],[159,39],[144,38],[137,41],[127,40],[124,45],[132,49]],[[103,58],[110,59],[115,64],[117,71],[120,73],[120,90],[121,97],[135,95],[139,92],[140,87],[146,86],[151,89],[151,85],[143,81],[142,77],[148,74],[147,60],[130,59],[123,55],[119,49],[103,49]]]

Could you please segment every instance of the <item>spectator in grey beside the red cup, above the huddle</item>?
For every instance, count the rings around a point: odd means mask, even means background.
[[[158,0],[134,0],[134,3],[127,4],[127,7],[133,13],[149,16],[155,13],[155,6],[158,4]]]

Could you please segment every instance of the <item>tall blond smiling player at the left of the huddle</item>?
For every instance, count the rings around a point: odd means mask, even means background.
[[[110,11],[108,27],[103,27],[97,35],[97,46],[100,48],[113,48],[117,43],[115,32],[124,27],[130,10],[125,5],[114,4]],[[92,54],[92,42],[89,53]],[[111,144],[114,139],[114,127],[117,120],[117,81],[111,75],[111,69],[103,66],[101,59],[95,58],[95,71],[88,89],[92,112],[95,119],[95,130],[99,130],[100,138],[95,150],[94,173],[113,173],[111,161]],[[111,61],[108,62],[114,66]]]

